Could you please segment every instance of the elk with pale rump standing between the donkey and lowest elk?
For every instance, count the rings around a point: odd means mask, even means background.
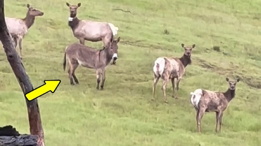
[[[153,98],[154,101],[155,97],[155,89],[157,86],[157,83],[159,81],[159,78],[163,80],[162,85],[162,91],[165,98],[165,102],[168,103],[166,98],[166,86],[169,79],[171,79],[172,83],[172,91],[173,95],[172,97],[178,98],[178,91],[179,91],[179,84],[182,79],[182,76],[185,73],[185,67],[188,64],[191,64],[191,53],[192,49],[195,48],[195,44],[192,46],[185,46],[184,44],[181,44],[181,46],[185,49],[184,54],[181,58],[177,57],[158,57],[153,66],[153,72],[154,72],[154,84],[153,84]],[[174,80],[177,78],[177,92],[175,96],[175,83]]]

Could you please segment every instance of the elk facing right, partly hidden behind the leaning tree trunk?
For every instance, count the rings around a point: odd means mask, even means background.
[[[22,59],[22,40],[24,36],[27,34],[28,29],[34,24],[35,17],[43,15],[43,12],[30,7],[29,4],[27,4],[27,8],[28,11],[24,19],[9,18],[9,17],[5,18],[8,30],[15,43],[15,47],[17,46],[17,42],[19,44],[21,59]]]

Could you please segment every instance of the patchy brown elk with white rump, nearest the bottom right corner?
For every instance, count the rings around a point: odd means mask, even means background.
[[[230,81],[229,88],[226,92],[209,91],[205,89],[197,89],[191,92],[191,103],[193,104],[197,115],[197,128],[198,132],[201,132],[201,119],[205,112],[215,112],[216,124],[215,132],[218,132],[218,124],[220,125],[219,131],[221,131],[223,112],[227,109],[229,102],[235,97],[237,81]]]

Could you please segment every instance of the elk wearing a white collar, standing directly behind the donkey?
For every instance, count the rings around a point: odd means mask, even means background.
[[[81,3],[78,3],[77,6],[69,3],[66,3],[66,5],[70,8],[68,25],[71,27],[74,37],[79,39],[80,44],[84,45],[84,40],[92,42],[102,41],[104,48],[110,46],[113,37],[117,35],[118,27],[108,22],[79,20],[76,15]],[[115,63],[115,60],[113,60],[113,64]]]

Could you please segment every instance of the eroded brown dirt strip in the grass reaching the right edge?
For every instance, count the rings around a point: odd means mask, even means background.
[[[219,67],[200,58],[198,58],[197,60],[199,62],[199,65],[203,68],[210,69],[222,76],[233,75],[235,78],[239,78],[241,82],[247,84],[248,86],[255,89],[261,89],[261,77],[253,78],[252,76],[247,76],[247,74],[243,75],[242,73],[236,72],[234,68]],[[235,68],[236,67],[237,66],[235,66]]]

